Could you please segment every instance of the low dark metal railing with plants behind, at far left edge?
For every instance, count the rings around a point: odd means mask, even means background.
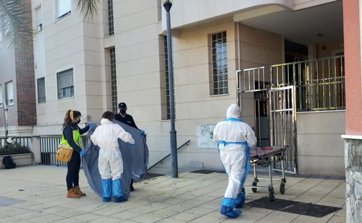
[[[31,153],[30,136],[14,137],[13,141],[14,143],[12,145],[8,145],[5,142],[5,138],[0,138],[0,155]]]

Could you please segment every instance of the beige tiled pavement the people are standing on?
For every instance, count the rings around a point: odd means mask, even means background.
[[[343,180],[288,177],[285,194],[276,194],[276,198],[281,199],[343,207],[323,218],[245,206],[241,216],[227,219],[219,213],[227,186],[227,176],[223,173],[181,173],[178,179],[160,176],[145,180],[134,184],[136,190],[125,203],[102,203],[89,188],[82,170],[80,186],[87,196],[66,198],[65,176],[64,167],[30,166],[0,170],[0,196],[24,201],[0,206],[0,222],[345,222]],[[249,176],[246,184],[252,180],[253,177]],[[277,193],[279,182],[274,182]],[[268,180],[260,180],[258,185],[268,185]],[[267,189],[253,193],[247,188],[246,192],[246,202],[268,196]]]

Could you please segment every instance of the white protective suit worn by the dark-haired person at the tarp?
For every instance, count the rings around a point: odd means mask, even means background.
[[[108,119],[102,119],[101,126],[98,126],[90,136],[93,144],[101,148],[98,157],[98,169],[102,179],[117,180],[121,178],[123,173],[122,154],[119,150],[118,138],[130,144],[135,143],[130,133]]]

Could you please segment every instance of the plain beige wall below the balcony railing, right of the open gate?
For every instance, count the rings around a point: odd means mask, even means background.
[[[298,173],[344,176],[345,111],[297,113]]]

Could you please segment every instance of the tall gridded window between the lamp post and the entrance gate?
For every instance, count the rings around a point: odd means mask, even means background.
[[[228,94],[226,31],[211,35],[213,94]]]

